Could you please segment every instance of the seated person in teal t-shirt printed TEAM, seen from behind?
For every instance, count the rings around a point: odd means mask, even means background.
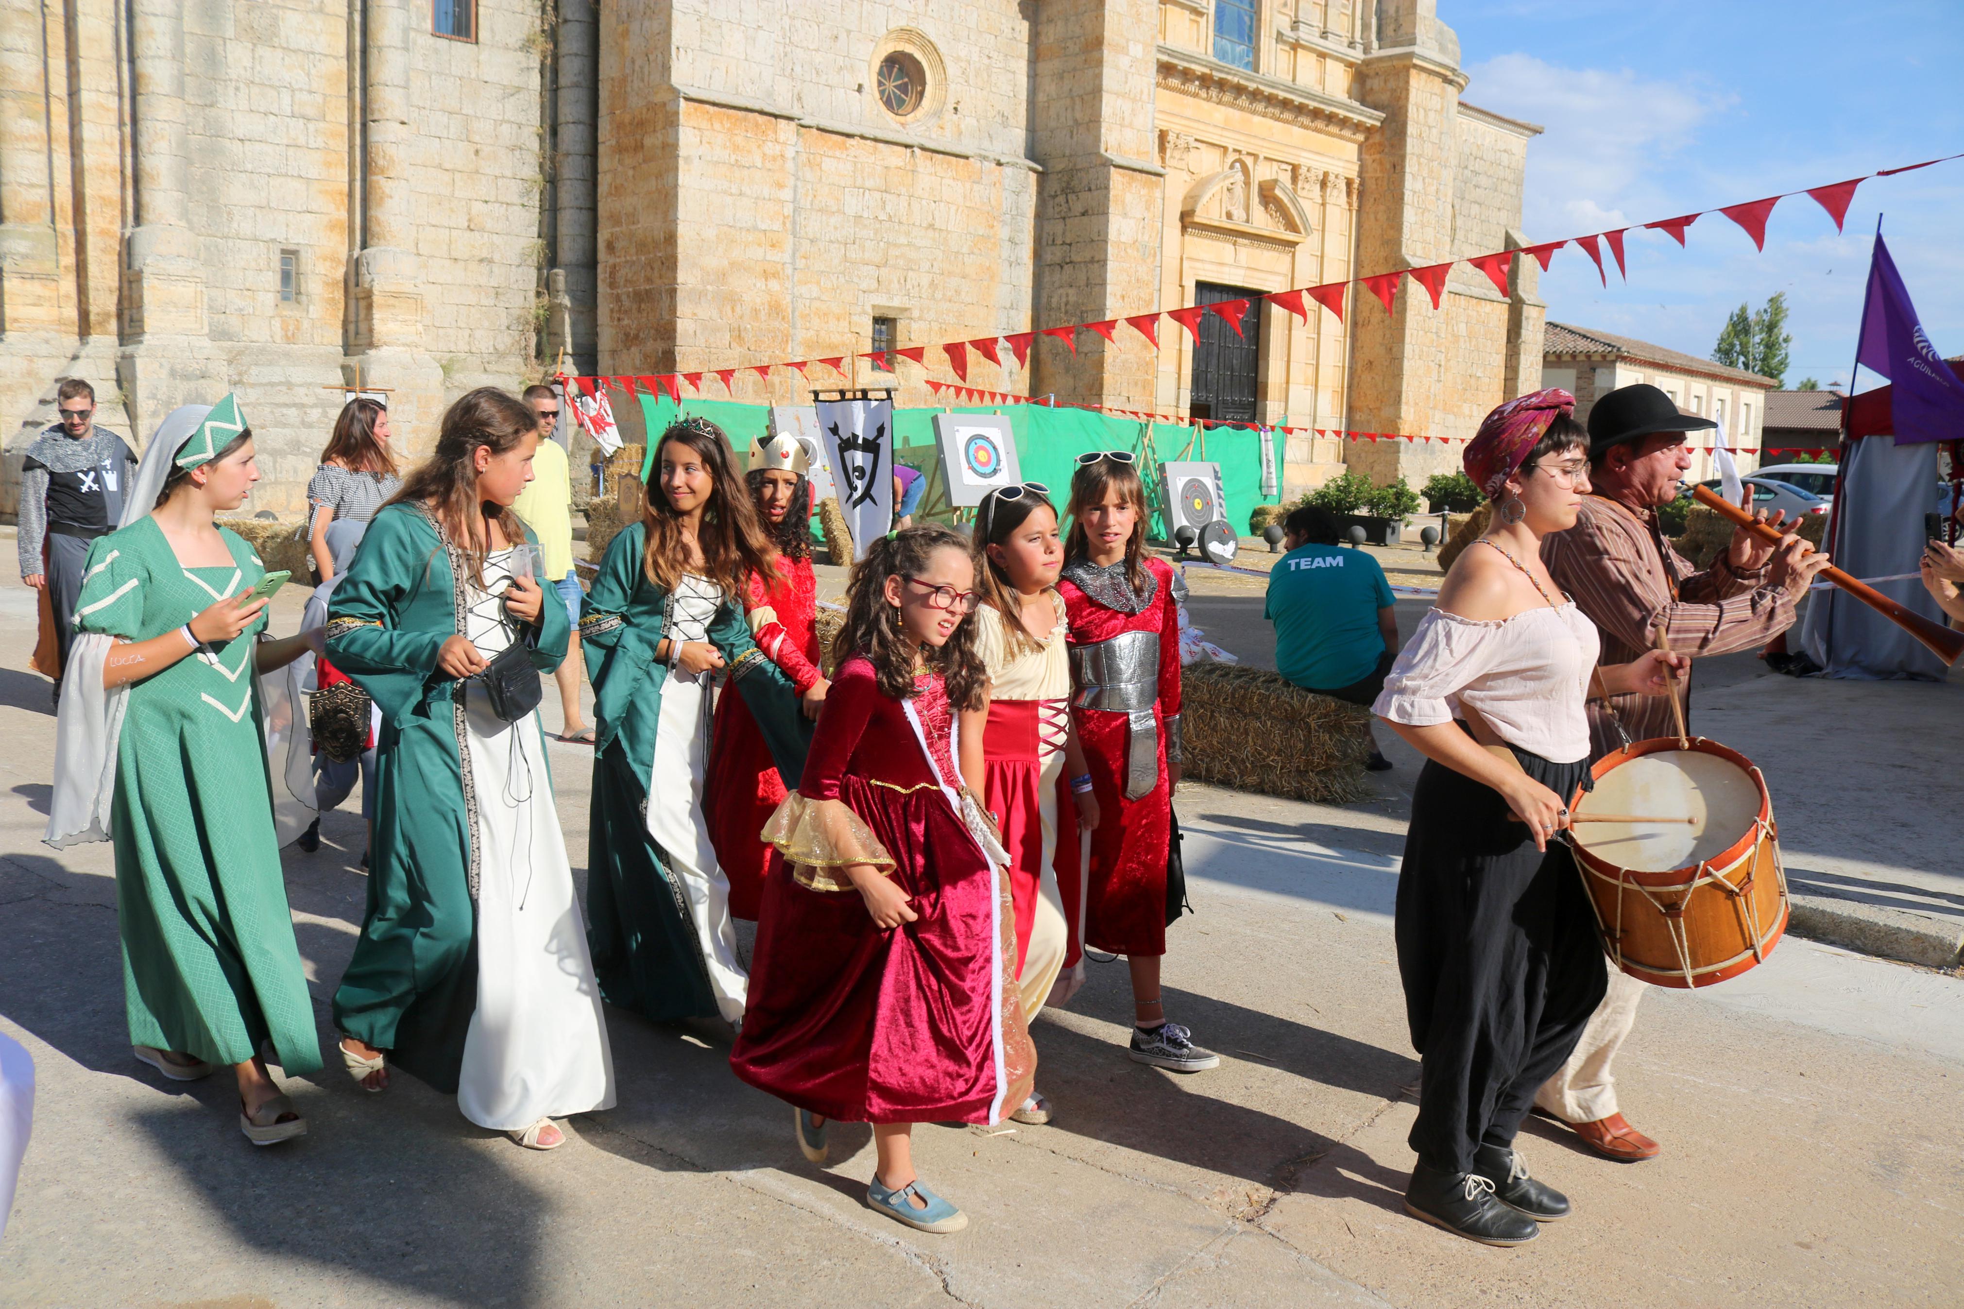
[[[1398,657],[1398,618],[1377,559],[1336,546],[1337,522],[1304,504],[1282,520],[1288,550],[1269,571],[1275,671],[1306,691],[1371,705]],[[1391,761],[1371,750],[1371,771]]]

